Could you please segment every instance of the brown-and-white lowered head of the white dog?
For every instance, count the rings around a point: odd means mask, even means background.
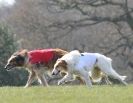
[[[58,59],[54,65],[52,75],[57,75],[60,71],[67,72],[67,62],[65,60]]]

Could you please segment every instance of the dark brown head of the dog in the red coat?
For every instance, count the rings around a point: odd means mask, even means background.
[[[23,67],[25,65],[25,59],[28,55],[27,50],[21,50],[18,52],[15,52],[11,57],[8,59],[8,62],[5,66],[6,70],[11,70],[15,67]]]

